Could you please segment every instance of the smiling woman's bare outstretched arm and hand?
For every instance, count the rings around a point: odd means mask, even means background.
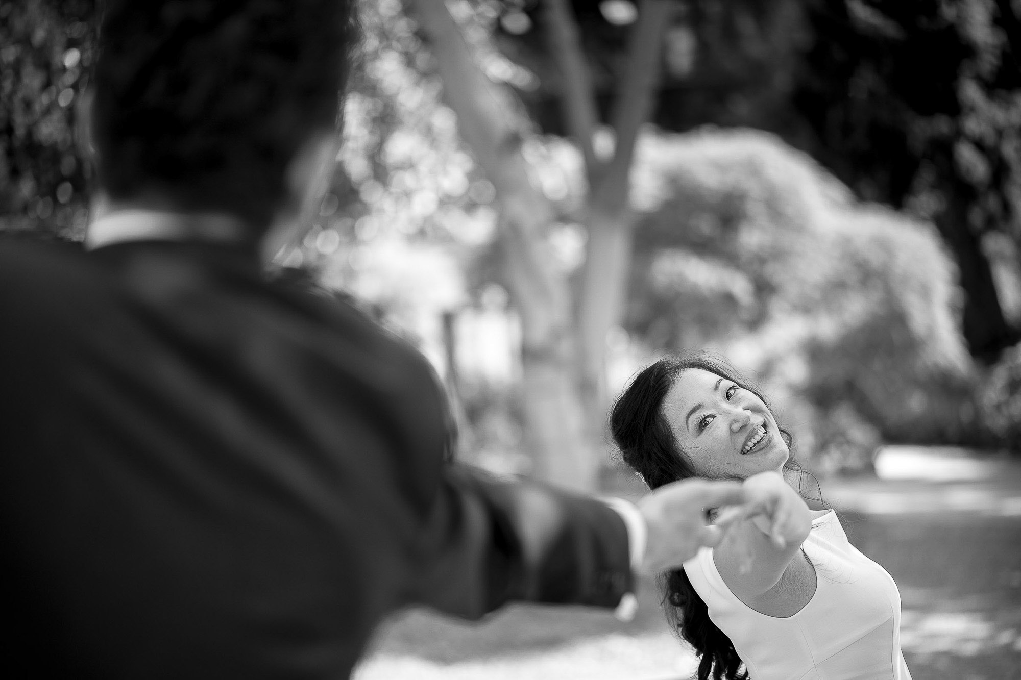
[[[812,512],[779,473],[753,475],[743,486],[759,514],[737,522],[713,556],[724,583],[748,602],[780,581],[812,530]]]

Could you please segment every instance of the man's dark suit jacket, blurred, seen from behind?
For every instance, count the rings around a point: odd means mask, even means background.
[[[404,604],[616,605],[616,513],[445,465],[443,398],[253,251],[0,244],[4,668],[340,678]]]

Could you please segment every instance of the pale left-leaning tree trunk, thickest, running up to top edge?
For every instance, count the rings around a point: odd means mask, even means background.
[[[516,102],[479,68],[443,0],[409,5],[436,56],[461,138],[496,189],[504,280],[522,324],[523,411],[535,474],[560,486],[593,489],[597,468],[586,445],[571,360],[570,291],[545,247],[553,211],[529,179]]]

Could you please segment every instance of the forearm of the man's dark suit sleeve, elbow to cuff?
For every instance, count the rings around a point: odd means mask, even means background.
[[[616,608],[633,589],[628,533],[603,502],[446,466],[416,600],[477,619],[505,602]]]

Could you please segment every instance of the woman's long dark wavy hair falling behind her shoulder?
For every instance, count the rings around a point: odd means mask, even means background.
[[[753,385],[723,361],[691,355],[661,359],[644,369],[617,399],[610,425],[624,462],[642,476],[650,489],[697,477],[662,408],[663,399],[677,376],[688,369],[701,369],[721,376],[748,390],[769,406]],[[780,434],[789,447],[793,443],[790,433],[781,428]],[[789,457],[784,468],[797,474],[800,480],[807,474]],[[734,643],[709,618],[706,602],[691,587],[684,570],[664,574],[661,588],[667,620],[698,653],[698,680],[709,680],[710,675],[715,680],[746,679],[747,673],[741,672],[742,662]]]

